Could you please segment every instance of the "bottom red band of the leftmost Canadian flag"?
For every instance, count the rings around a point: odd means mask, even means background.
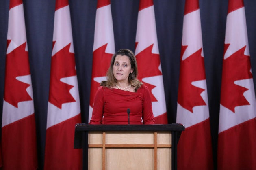
[[[22,130],[21,130],[22,127]],[[2,127],[3,168],[37,169],[35,114]],[[8,139],[8,140],[7,140]]]

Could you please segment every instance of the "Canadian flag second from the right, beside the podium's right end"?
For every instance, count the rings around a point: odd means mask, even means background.
[[[178,170],[213,169],[198,0],[185,1],[176,123],[185,126],[178,142]]]

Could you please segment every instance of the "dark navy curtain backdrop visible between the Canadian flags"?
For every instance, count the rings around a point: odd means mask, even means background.
[[[35,104],[39,168],[42,169],[55,1],[23,1]],[[185,0],[154,0],[156,30],[169,123],[175,123],[176,121],[184,2]],[[228,0],[199,0],[199,2],[213,158],[216,168],[221,71]],[[69,0],[69,4],[82,122],[87,123],[97,0]],[[256,87],[256,1],[244,0],[244,4],[254,87]],[[116,50],[128,48],[135,51],[138,9],[139,0],[111,0]],[[0,123],[2,123],[8,11],[9,0],[0,0]]]

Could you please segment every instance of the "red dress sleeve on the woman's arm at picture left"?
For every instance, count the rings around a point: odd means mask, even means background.
[[[96,91],[93,102],[93,113],[89,124],[102,124],[102,116],[104,112],[103,91],[104,89],[102,86]]]

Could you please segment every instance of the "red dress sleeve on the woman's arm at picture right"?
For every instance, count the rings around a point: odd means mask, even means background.
[[[145,87],[144,90],[144,100],[142,106],[142,120],[143,124],[155,124],[155,118],[152,111],[152,102],[150,97],[150,91],[148,87]]]

